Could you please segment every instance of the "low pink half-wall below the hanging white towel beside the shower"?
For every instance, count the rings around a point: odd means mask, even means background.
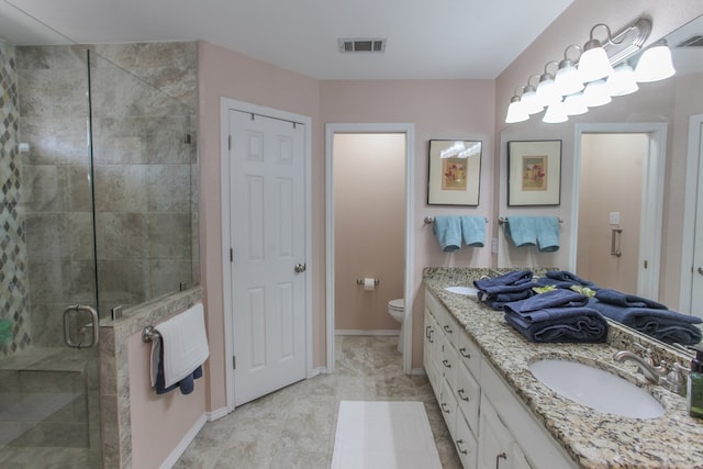
[[[190,394],[181,394],[179,390],[156,394],[148,379],[150,353],[152,345],[142,340],[142,332],[130,336],[127,356],[134,468],[161,466],[196,422],[203,417],[207,409],[207,375],[196,380]]]

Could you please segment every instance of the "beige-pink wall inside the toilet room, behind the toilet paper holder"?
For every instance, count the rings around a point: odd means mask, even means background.
[[[335,134],[335,330],[388,331],[405,279],[405,135]],[[357,279],[379,284],[367,291]]]

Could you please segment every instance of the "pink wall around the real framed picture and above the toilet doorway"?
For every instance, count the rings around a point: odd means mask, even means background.
[[[415,134],[415,247],[412,289],[413,368],[422,367],[422,269],[426,266],[488,266],[490,244],[465,248],[453,255],[443,253],[423,223],[425,216],[492,211],[491,181],[493,135],[493,81],[491,80],[366,80],[323,81],[321,119],[325,123],[413,123]],[[427,152],[432,138],[461,138],[483,142],[480,205],[478,208],[428,206]],[[489,224],[487,241],[491,238]]]

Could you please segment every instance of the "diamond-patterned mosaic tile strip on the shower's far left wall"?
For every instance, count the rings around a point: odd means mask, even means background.
[[[11,339],[0,343],[10,356],[31,343],[24,216],[21,211],[19,96],[15,49],[0,41],[0,320],[11,321]],[[1,339],[1,337],[0,337]]]

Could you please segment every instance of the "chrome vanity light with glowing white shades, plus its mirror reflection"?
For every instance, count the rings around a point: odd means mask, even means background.
[[[599,27],[605,29],[607,34],[603,41],[594,37]],[[651,20],[648,18],[638,19],[614,36],[606,24],[599,23],[591,27],[583,49],[573,44],[568,46],[554,75],[548,67],[555,62],[549,62],[543,74],[532,75],[527,79],[522,96],[515,93],[511,99],[505,123],[525,121],[545,107],[547,110],[543,122],[565,122],[568,115],[583,114],[589,108],[607,104],[612,101],[611,97],[637,91],[637,82],[672,76],[676,70],[671,52],[663,40],[641,53],[634,66],[636,58],[631,57],[643,49],[650,32]],[[569,58],[572,48],[579,52],[576,59]],[[536,89],[531,82],[534,77],[539,79]],[[557,98],[553,94],[554,89],[558,90]]]

